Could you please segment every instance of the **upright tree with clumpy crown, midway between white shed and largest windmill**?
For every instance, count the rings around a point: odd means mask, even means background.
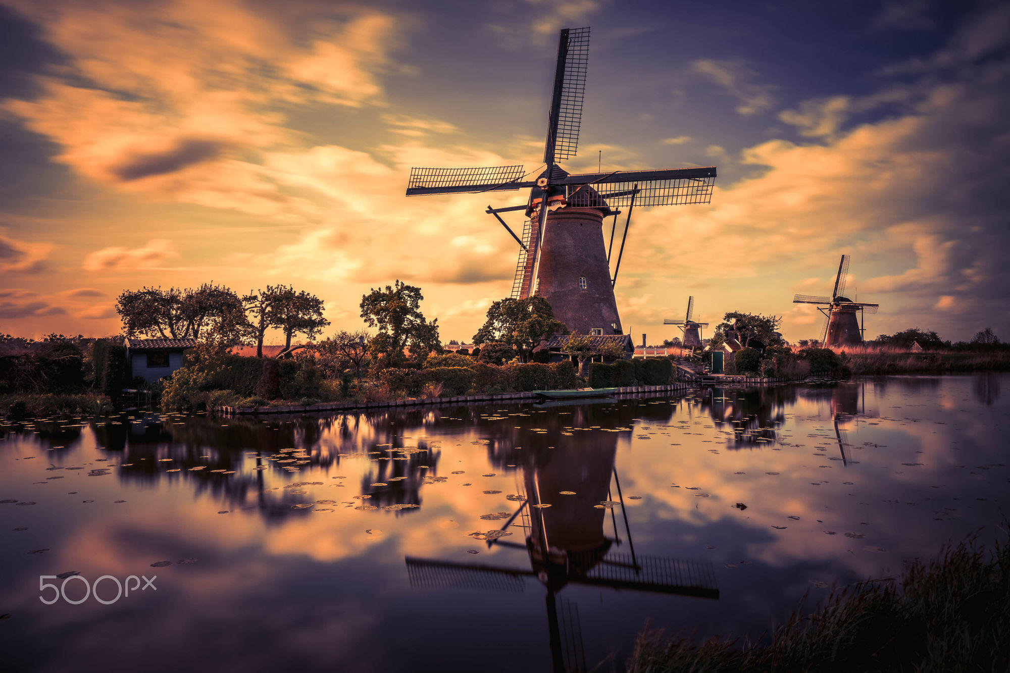
[[[379,333],[372,338],[369,351],[375,362],[396,366],[410,350],[411,360],[423,362],[431,351],[440,351],[438,319],[430,322],[421,313],[421,288],[399,280],[385,290],[375,289],[362,297],[362,318]]]

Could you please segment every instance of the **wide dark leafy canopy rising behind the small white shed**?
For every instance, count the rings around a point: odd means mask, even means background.
[[[222,285],[204,283],[197,288],[143,287],[124,290],[116,300],[116,312],[127,336],[200,339],[207,329],[221,325],[245,326],[242,300]],[[231,334],[236,338],[240,331]]]

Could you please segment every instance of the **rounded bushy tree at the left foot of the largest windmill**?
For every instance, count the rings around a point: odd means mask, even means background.
[[[529,354],[540,342],[554,334],[569,333],[568,326],[554,318],[554,311],[547,300],[540,296],[527,299],[506,297],[488,308],[484,325],[474,334],[474,344],[508,344],[519,352],[526,362]]]

